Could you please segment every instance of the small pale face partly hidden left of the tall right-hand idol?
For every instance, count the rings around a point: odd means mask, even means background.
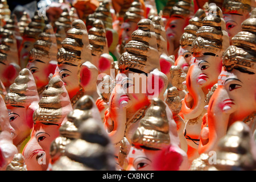
[[[178,57],[175,61],[175,65],[180,66],[180,68],[187,73],[188,69],[190,67],[190,60],[192,57],[192,53],[191,53],[191,46],[185,46],[185,47],[181,47],[178,51]]]

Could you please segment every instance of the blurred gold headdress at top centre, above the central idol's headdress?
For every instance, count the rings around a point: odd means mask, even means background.
[[[139,20],[143,19],[144,12],[142,9],[142,4],[139,0],[134,0],[131,3],[131,6],[126,11],[125,16],[123,17],[123,21],[135,22],[138,23]]]

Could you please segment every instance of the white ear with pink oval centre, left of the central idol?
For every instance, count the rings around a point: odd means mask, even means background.
[[[80,68],[80,85],[84,90],[88,90],[97,82],[98,69],[95,65],[86,61]]]

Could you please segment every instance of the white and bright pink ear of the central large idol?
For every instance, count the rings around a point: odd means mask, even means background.
[[[161,98],[163,100],[164,92],[168,86],[168,78],[163,73],[160,72],[157,68],[154,71],[148,73],[147,75],[147,96],[148,99],[154,97]]]

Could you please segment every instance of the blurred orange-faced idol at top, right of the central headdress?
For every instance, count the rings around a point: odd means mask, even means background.
[[[188,25],[190,17],[191,0],[179,0],[172,7],[170,18],[166,23],[166,36],[168,41],[168,54],[177,59],[180,48],[180,38],[184,28]]]

